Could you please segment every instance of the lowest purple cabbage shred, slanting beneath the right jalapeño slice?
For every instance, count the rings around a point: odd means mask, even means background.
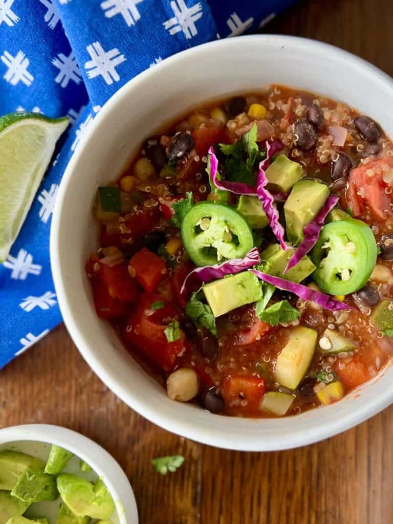
[[[267,273],[263,273],[262,271],[257,271],[256,269],[250,269],[250,271],[264,282],[272,284],[273,286],[276,286],[279,289],[294,293],[303,300],[315,302],[321,305],[324,309],[329,309],[330,311],[339,311],[341,309],[355,309],[351,305],[346,304],[345,302],[336,300],[335,298],[330,297],[328,294],[321,293],[320,291],[315,291],[314,289],[308,288],[307,286],[303,286],[302,284],[297,284],[296,282],[291,282],[290,280],[285,280],[280,277],[274,277],[272,275],[268,275]]]

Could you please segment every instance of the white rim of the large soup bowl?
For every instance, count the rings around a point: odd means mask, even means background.
[[[361,71],[361,74],[365,76],[373,75],[377,78],[380,84],[381,90],[386,90],[393,99],[393,79],[386,73],[378,69],[375,65],[370,64],[366,60],[355,56],[354,54],[345,51],[343,49],[332,46],[328,43],[320,42],[318,40],[312,40],[308,38],[293,37],[293,36],[282,36],[282,35],[248,35],[241,36],[232,39],[223,39],[213,42],[208,42],[200,46],[196,46],[185,51],[181,51],[173,56],[163,60],[162,62],[155,65],[154,68],[147,69],[139,73],[136,77],[129,80],[124,84],[101,108],[99,113],[94,118],[91,126],[86,130],[86,133],[81,139],[81,143],[77,151],[74,152],[71,157],[67,168],[64,171],[60,188],[57,196],[57,205],[52,217],[51,235],[50,235],[50,258],[54,285],[58,297],[61,313],[67,329],[72,337],[73,342],[78,347],[78,350],[82,354],[85,361],[91,366],[94,372],[100,377],[100,379],[119,397],[121,398],[130,408],[137,411],[141,416],[148,419],[150,422],[158,424],[163,429],[172,433],[179,434],[185,438],[198,441],[203,444],[208,444],[223,449],[239,450],[239,451],[278,451],[284,449],[292,449],[295,447],[308,445],[314,442],[319,442],[336,434],[339,434],[347,429],[354,427],[355,425],[367,420],[374,416],[379,411],[383,410],[390,403],[393,402],[393,388],[389,391],[384,391],[383,395],[379,395],[377,398],[371,398],[365,401],[361,407],[355,410],[355,412],[348,412],[345,417],[341,417],[334,424],[321,423],[318,427],[304,430],[291,431],[290,435],[287,435],[286,439],[281,439],[280,442],[276,442],[271,436],[266,438],[260,435],[253,436],[252,438],[238,439],[235,435],[227,435],[222,431],[215,429],[212,424],[209,433],[206,433],[204,429],[200,429],[198,424],[193,422],[191,419],[185,420],[176,418],[176,410],[174,410],[173,418],[163,416],[158,410],[152,408],[149,402],[145,402],[140,396],[130,395],[121,385],[117,384],[116,378],[112,373],[105,368],[100,362],[100,359],[94,354],[94,351],[89,347],[89,343],[86,343],[85,337],[81,334],[78,328],[78,323],[75,321],[70,307],[68,305],[66,285],[60,271],[60,252],[59,252],[59,232],[60,232],[60,220],[61,210],[63,207],[63,200],[67,193],[68,184],[71,179],[76,176],[74,167],[77,164],[79,157],[88,143],[91,135],[100,127],[101,122],[104,120],[106,115],[112,111],[125,96],[128,96],[136,85],[140,82],[144,82],[149,77],[155,77],[161,70],[169,68],[173,63],[176,63],[179,59],[187,54],[189,59],[193,56],[199,55],[206,51],[214,51],[219,48],[231,49],[232,46],[241,46],[243,41],[254,41],[255,46],[263,45],[279,45],[288,46],[293,52],[302,52],[302,50],[310,51],[313,49],[315,54],[318,54],[321,60],[324,56],[334,59],[345,64],[351,62],[351,65]],[[328,409],[328,408],[324,408]],[[228,417],[230,418],[230,417]],[[233,418],[233,417],[231,417]],[[260,419],[252,419],[253,421]],[[300,424],[299,424],[300,425]],[[237,435],[238,436],[238,435]],[[285,442],[284,442],[285,440]]]

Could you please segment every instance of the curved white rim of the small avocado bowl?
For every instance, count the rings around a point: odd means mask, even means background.
[[[133,488],[123,468],[102,446],[77,431],[52,424],[21,424],[0,429],[0,445],[17,441],[56,444],[87,462],[104,479],[114,500],[119,524],[138,524]]]

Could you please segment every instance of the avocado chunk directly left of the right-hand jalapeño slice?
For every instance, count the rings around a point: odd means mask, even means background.
[[[260,255],[262,260],[261,270],[274,277],[285,278],[292,282],[301,282],[315,270],[315,266],[307,255],[305,255],[296,266],[293,266],[286,274],[283,270],[293,255],[294,249],[281,249],[278,244],[272,244]]]

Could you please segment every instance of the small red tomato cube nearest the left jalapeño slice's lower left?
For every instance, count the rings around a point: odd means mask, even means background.
[[[143,247],[130,259],[129,267],[135,270],[135,278],[148,293],[156,289],[158,282],[167,272],[165,260],[147,247]]]

